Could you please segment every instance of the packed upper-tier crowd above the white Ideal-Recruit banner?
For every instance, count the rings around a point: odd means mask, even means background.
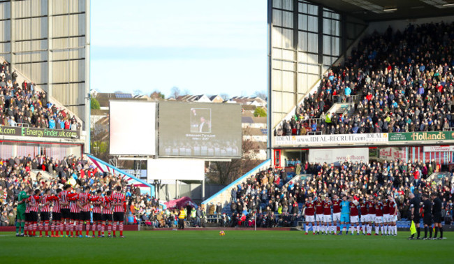
[[[365,37],[274,135],[452,130],[453,42],[454,23]]]

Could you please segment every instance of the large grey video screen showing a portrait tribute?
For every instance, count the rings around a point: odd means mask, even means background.
[[[159,103],[159,156],[240,157],[241,105]]]

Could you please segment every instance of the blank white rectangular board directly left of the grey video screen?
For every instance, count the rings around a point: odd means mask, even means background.
[[[110,101],[110,154],[156,155],[156,103]]]

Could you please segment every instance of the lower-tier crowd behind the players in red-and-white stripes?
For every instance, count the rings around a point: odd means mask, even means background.
[[[89,187],[91,191],[105,191],[116,185],[124,186],[129,223],[138,223],[137,220],[140,221],[142,214],[154,216],[153,214],[158,213],[158,199],[141,193],[139,186],[131,184],[126,175],[113,169],[105,171],[92,162],[94,159],[91,158],[68,156],[59,160],[44,155],[29,155],[0,159],[0,212],[8,219],[7,225],[15,223],[17,194],[20,191],[29,187],[40,190],[50,188],[54,192],[67,183],[76,189]]]

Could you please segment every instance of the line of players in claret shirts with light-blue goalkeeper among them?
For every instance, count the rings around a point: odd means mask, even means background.
[[[332,212],[331,212],[332,211]],[[337,223],[340,222],[340,233],[346,235],[360,235],[361,228],[363,235],[372,235],[372,227],[375,227],[374,235],[397,235],[397,204],[393,196],[379,198],[368,196],[367,200],[359,199],[359,202],[353,197],[347,198],[334,195],[332,199],[321,196],[315,199],[309,196],[305,203],[302,214],[305,215],[305,232],[309,230],[309,224],[312,225],[313,234],[320,233],[326,235],[337,233]],[[361,223],[361,226],[360,226]]]

